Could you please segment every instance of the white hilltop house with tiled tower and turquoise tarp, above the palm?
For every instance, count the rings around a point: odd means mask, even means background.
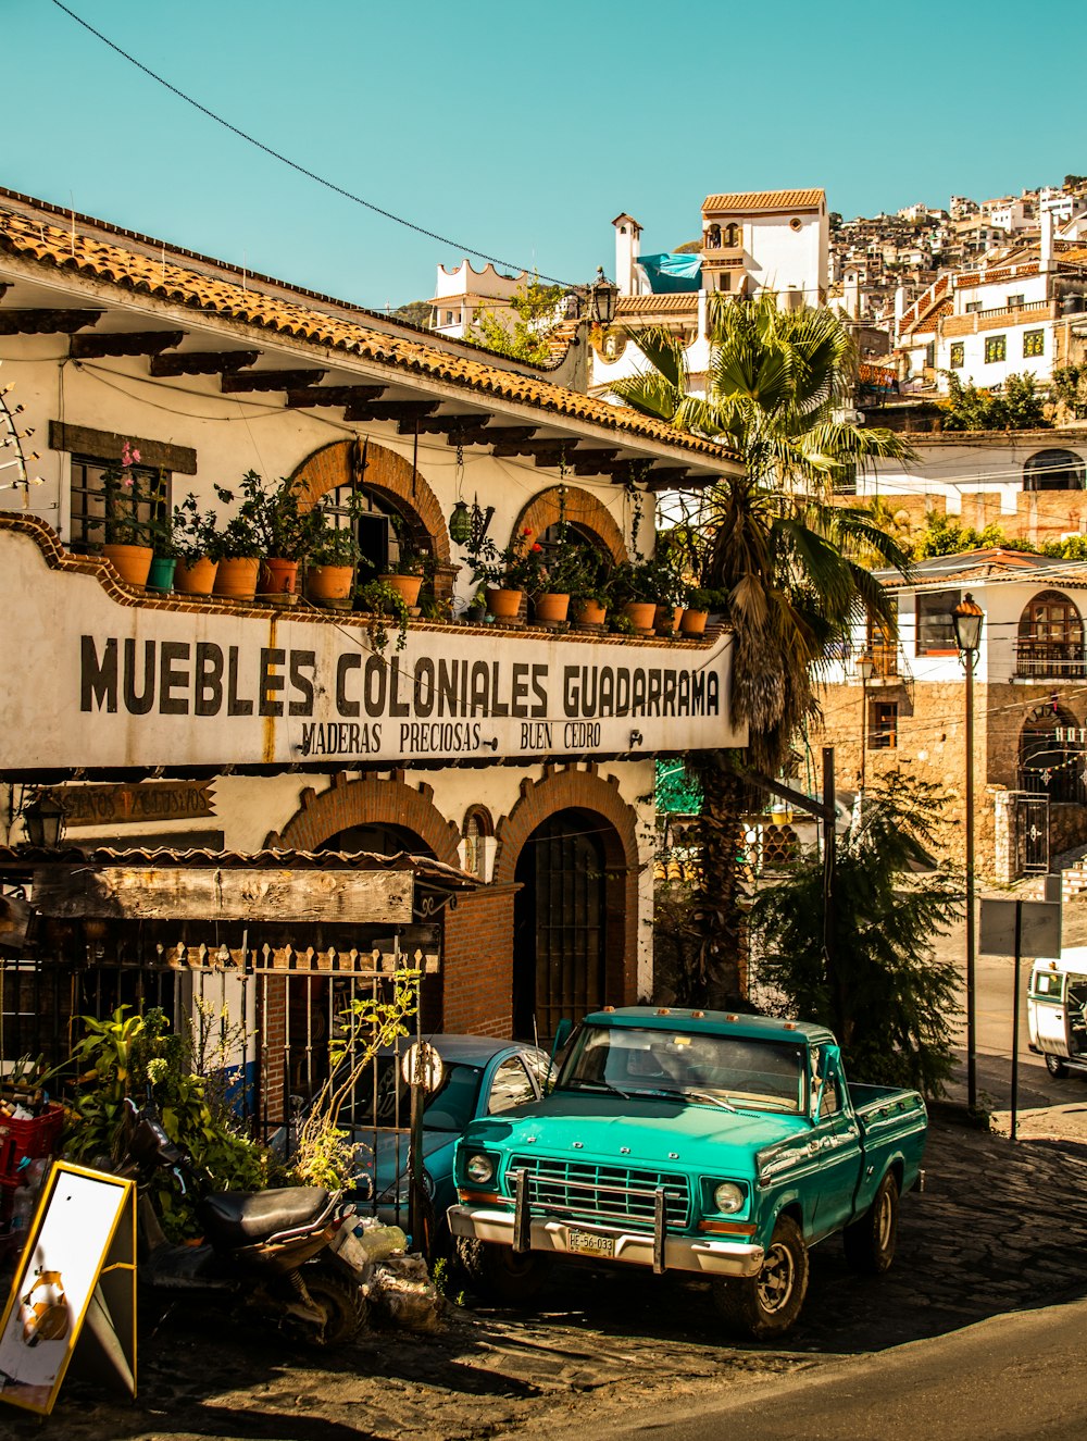
[[[756,295],[772,290],[789,308],[822,304],[829,271],[826,195],[806,190],[744,190],[703,202],[700,241],[677,251],[642,254],[642,225],[618,215],[615,323],[590,336],[589,389],[638,373],[644,359],[629,333],[664,326],[682,337],[694,389],[708,363],[707,295]]]

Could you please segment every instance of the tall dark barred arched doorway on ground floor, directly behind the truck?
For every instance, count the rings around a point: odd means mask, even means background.
[[[553,1036],[608,1000],[609,906],[602,816],[561,810],[521,847],[514,902],[514,1036]],[[613,833],[612,833],[613,836]]]

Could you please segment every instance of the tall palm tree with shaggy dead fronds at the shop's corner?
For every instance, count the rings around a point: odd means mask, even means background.
[[[682,342],[662,329],[631,334],[649,369],[612,385],[645,415],[718,440],[744,461],[701,500],[695,529],[704,586],[734,633],[731,719],[747,723],[746,752],[700,751],[694,896],[697,955],[681,1000],[737,1006],[746,888],[743,816],[762,804],[749,768],[777,774],[818,718],[818,684],[832,647],[865,612],[894,628],[888,598],[867,569],[904,569],[904,550],[865,510],[835,506],[834,484],[875,458],[908,460],[891,431],[838,418],[854,357],[828,310],[782,311],[776,297],[710,297],[705,395],[693,395]]]

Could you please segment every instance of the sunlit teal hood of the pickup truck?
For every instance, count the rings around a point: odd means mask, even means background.
[[[563,1154],[572,1160],[592,1156],[662,1169],[703,1167],[711,1161],[714,1170],[739,1167],[739,1174],[753,1174],[757,1151],[809,1131],[811,1123],[802,1115],[733,1112],[675,1097],[628,1101],[619,1095],[559,1091],[507,1115],[474,1121],[461,1146],[524,1148],[528,1154]]]

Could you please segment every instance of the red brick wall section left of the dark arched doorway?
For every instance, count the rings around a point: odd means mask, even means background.
[[[491,885],[445,908],[442,1029],[513,1035],[515,885]]]

